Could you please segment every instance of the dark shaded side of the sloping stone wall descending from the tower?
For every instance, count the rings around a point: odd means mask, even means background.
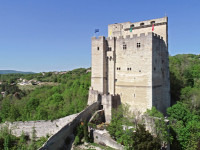
[[[95,102],[88,106],[85,110],[80,112],[74,120],[64,126],[56,134],[51,136],[46,143],[39,150],[59,150],[70,149],[73,141],[73,131],[81,121],[89,121],[92,114],[100,107],[100,102]]]

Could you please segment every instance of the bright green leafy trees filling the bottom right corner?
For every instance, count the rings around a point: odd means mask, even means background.
[[[177,150],[196,150],[200,147],[200,116],[191,112],[187,105],[178,102],[168,108],[170,131],[174,137],[171,147]]]

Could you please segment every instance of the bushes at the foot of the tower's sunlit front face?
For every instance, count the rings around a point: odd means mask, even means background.
[[[144,125],[137,124],[134,116],[130,115],[128,106],[121,106],[117,110],[113,110],[113,117],[107,130],[110,135],[120,144],[124,145],[128,150],[158,150],[161,148],[161,140],[159,137],[153,137],[145,130]],[[125,129],[123,129],[124,125]],[[131,127],[131,128],[128,128]],[[135,129],[134,129],[135,128]]]

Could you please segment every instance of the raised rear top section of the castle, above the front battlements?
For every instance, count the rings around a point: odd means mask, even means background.
[[[123,39],[128,39],[127,35],[132,37],[145,37],[148,36],[149,32],[154,32],[160,35],[162,38],[157,37],[158,39],[162,39],[165,43],[168,43],[168,35],[167,28],[168,26],[168,18],[158,18],[151,19],[140,22],[124,22],[124,23],[116,23],[108,25],[108,37],[117,37],[120,39],[120,36],[123,36]],[[136,35],[137,36],[136,36]],[[142,35],[145,34],[145,35]],[[156,37],[156,36],[154,36]]]

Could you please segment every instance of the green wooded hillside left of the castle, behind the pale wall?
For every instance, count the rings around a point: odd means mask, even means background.
[[[53,120],[78,113],[87,105],[90,73],[86,69],[76,69],[65,74],[10,74],[1,75],[0,120]],[[34,90],[20,90],[18,78],[57,82],[58,85],[43,85]],[[36,85],[32,85],[36,86]]]

